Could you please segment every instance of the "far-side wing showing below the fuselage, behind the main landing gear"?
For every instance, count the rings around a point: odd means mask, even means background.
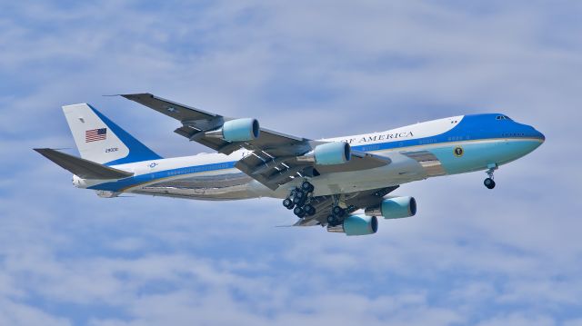
[[[346,203],[346,213],[356,212],[359,209],[376,206],[384,200],[384,196],[394,192],[399,186],[367,190],[357,193],[344,193],[344,203]],[[334,206],[332,196],[319,196],[311,202],[316,208],[316,214],[299,219],[293,226],[326,225],[327,215]]]

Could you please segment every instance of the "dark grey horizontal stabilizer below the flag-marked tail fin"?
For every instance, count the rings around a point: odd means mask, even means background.
[[[134,175],[50,148],[35,148],[35,151],[83,179],[123,179]]]

